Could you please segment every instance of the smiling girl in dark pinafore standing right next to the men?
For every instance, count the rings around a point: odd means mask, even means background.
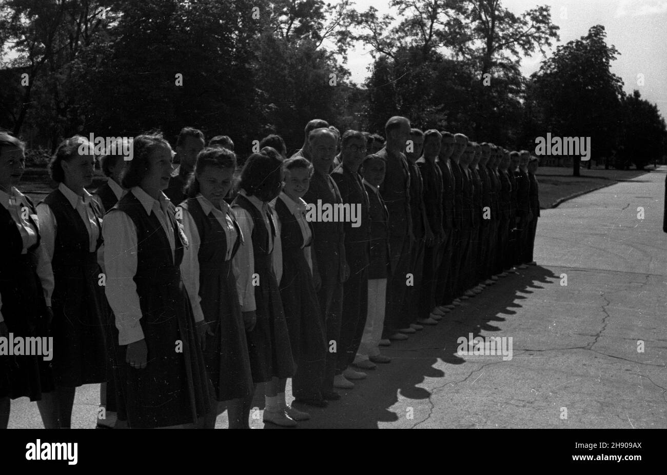
[[[283,162],[283,171],[285,187],[275,200],[275,211],[283,253],[280,296],[297,366],[292,394],[297,403],[326,407],[321,394],[327,358],[326,330],[317,300],[320,283],[313,266],[313,230],[305,219],[306,203],[301,199],[308,191],[313,165],[303,157],[295,157]]]

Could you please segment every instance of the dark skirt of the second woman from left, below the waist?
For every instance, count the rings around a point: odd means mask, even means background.
[[[53,268],[53,378],[76,388],[106,381],[105,308],[108,305],[96,253],[82,266]]]

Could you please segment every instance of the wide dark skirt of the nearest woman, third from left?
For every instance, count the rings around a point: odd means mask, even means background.
[[[143,298],[146,310],[140,321],[148,348],[146,368],[125,363],[127,346],[118,346],[118,390],[125,403],[118,418],[130,428],[194,424],[209,411],[211,388],[190,302],[182,285],[168,300],[152,297],[157,298]]]

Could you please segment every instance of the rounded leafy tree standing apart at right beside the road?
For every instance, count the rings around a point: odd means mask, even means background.
[[[590,137],[592,157],[609,156],[618,137],[623,81],[610,70],[620,53],[604,41],[602,25],[559,46],[531,75],[530,109],[540,117],[542,136]],[[580,159],[573,160],[579,176]]]

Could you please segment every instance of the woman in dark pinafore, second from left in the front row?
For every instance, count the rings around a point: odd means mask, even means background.
[[[37,205],[41,246],[55,285],[46,286],[47,305],[53,308],[53,400],[40,406],[42,418],[71,425],[75,388],[106,380],[106,343],[103,316],[107,312],[97,251],[102,246],[102,210],[84,187],[93,181],[93,148],[75,135],[63,141],[49,163],[51,178],[59,183]]]

